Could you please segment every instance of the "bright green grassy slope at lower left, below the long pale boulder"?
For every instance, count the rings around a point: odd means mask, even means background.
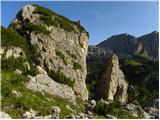
[[[25,87],[26,81],[27,79],[23,75],[2,72],[2,111],[11,115],[12,118],[22,118],[24,112],[31,108],[39,111],[38,115],[49,115],[52,106],[60,107],[60,118],[72,113],[72,111],[66,109],[66,105],[74,107],[70,102],[50,94],[33,92]],[[12,89],[19,91],[22,97],[16,97],[12,94]]]

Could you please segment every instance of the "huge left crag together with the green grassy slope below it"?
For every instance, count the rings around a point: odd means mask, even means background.
[[[89,36],[78,22],[33,4],[1,33],[3,111],[12,118],[82,112]],[[59,117],[57,110],[50,115],[53,106],[61,109]]]

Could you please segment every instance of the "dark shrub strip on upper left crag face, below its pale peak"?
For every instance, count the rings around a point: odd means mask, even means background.
[[[50,33],[49,30],[46,30],[45,26],[42,26],[41,24],[34,24],[34,23],[28,23],[25,26],[25,30],[36,31],[38,33],[44,33],[47,35]]]

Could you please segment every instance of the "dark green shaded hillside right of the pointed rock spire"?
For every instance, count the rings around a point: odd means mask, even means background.
[[[132,87],[128,89],[128,101],[137,100],[142,107],[159,98],[158,62],[142,56],[120,60],[120,66]]]

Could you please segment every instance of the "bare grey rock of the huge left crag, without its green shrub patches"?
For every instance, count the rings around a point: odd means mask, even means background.
[[[35,9],[33,5],[24,6],[13,21],[17,22],[18,26],[21,27],[16,27],[14,29],[27,36],[27,38],[29,38],[27,39],[28,42],[32,45],[37,46],[39,55],[36,59],[39,63],[38,65],[40,65],[43,70],[58,71],[61,69],[64,75],[75,80],[73,86],[74,91],[79,93],[83,100],[87,100],[88,91],[85,80],[87,74],[86,55],[88,50],[88,36],[86,32],[79,31],[78,26],[72,22],[71,24],[75,28],[75,31],[72,32],[60,28],[59,25],[58,27],[47,26],[44,24],[43,20],[39,19],[39,17],[43,15],[33,13]],[[21,18],[18,16],[21,16]],[[53,15],[53,18],[54,17],[64,19],[56,14]],[[46,30],[50,31],[49,35],[37,33],[36,31],[24,30],[28,22],[43,25]],[[58,55],[57,52],[61,53],[61,56]],[[81,69],[74,69],[73,66],[75,63],[78,63]]]

